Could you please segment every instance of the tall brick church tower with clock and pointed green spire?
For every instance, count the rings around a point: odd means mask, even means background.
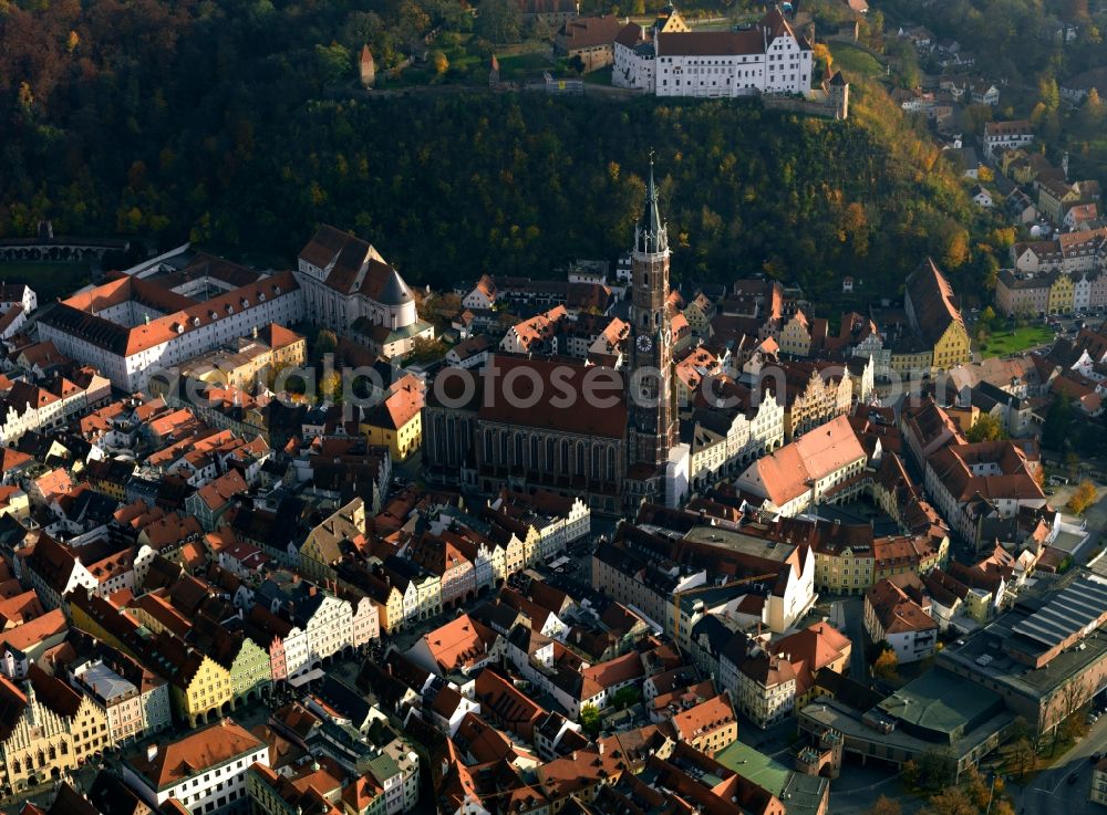
[[[628,464],[638,473],[651,468],[652,476],[643,480],[653,483],[643,484],[643,488],[653,493],[650,500],[660,500],[669,453],[677,441],[677,433],[673,332],[669,314],[669,233],[658,211],[652,155],[645,211],[634,228],[631,274]]]

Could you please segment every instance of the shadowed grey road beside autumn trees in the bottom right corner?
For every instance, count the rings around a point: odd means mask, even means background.
[[[1043,770],[1030,785],[1007,784],[1020,815],[1094,815],[1101,812],[1088,801],[1092,785],[1092,755],[1107,750],[1107,717],[1092,725],[1088,735]],[[1069,783],[1069,777],[1075,780]]]

